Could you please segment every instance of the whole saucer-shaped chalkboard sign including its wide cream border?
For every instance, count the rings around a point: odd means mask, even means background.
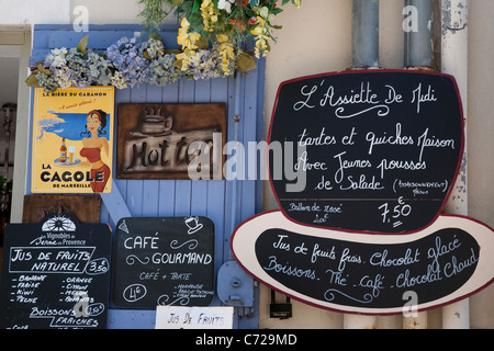
[[[494,278],[494,231],[439,216],[408,235],[348,234],[297,225],[280,211],[240,225],[233,251],[251,275],[283,294],[338,312],[401,314],[461,299]]]

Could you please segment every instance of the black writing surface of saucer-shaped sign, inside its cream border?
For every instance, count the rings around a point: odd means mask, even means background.
[[[408,291],[420,304],[456,292],[475,272],[480,246],[459,228],[392,245],[268,229],[256,241],[256,257],[285,288],[335,305],[381,309],[403,306]]]

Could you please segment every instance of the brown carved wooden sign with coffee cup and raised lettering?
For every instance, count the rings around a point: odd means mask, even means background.
[[[226,104],[119,104],[116,178],[222,179]]]

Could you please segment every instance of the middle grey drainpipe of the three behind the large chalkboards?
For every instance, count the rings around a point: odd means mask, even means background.
[[[433,0],[405,0],[405,67],[433,70]],[[427,329],[427,312],[403,317],[404,329]]]

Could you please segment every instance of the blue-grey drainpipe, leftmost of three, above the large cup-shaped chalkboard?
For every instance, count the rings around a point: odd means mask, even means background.
[[[379,67],[379,0],[352,0],[352,68]],[[377,316],[344,315],[345,329],[375,329]]]

